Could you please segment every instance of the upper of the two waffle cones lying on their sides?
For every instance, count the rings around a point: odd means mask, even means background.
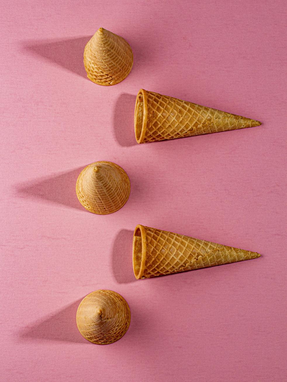
[[[136,97],[138,143],[259,126],[261,122],[141,89]]]

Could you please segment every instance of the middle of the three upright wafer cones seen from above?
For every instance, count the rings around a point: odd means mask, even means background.
[[[112,162],[94,162],[78,176],[76,194],[88,211],[98,215],[119,210],[130,196],[130,180],[122,167]]]

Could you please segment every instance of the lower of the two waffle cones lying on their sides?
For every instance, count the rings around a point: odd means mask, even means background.
[[[259,253],[137,225],[133,235],[136,278],[169,275],[255,259]]]

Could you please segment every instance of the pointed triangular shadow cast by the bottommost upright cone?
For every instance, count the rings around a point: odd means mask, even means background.
[[[75,301],[52,316],[28,325],[19,333],[22,341],[51,340],[74,343],[88,343],[78,331],[76,312],[82,299]]]

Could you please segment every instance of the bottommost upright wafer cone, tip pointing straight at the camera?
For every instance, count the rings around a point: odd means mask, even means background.
[[[112,290],[96,290],[86,296],[76,315],[77,326],[86,340],[107,345],[123,337],[131,322],[126,300]]]

